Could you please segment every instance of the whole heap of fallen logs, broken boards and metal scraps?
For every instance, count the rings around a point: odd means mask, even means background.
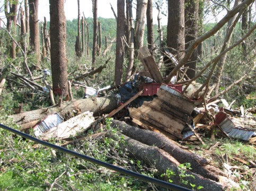
[[[233,182],[234,177],[229,176],[230,170],[220,170],[210,165],[204,157],[182,148],[173,140],[199,140],[201,144],[205,144],[202,135],[209,132],[211,139],[214,139],[214,131],[218,129],[222,136],[256,145],[255,117],[244,112],[243,108],[240,111],[232,110],[232,104],[225,100],[210,103],[205,100],[191,100],[184,95],[182,85],[164,83],[154,59],[145,47],[140,51],[140,58],[148,76],[137,74],[134,80],[118,87],[114,96],[98,97],[99,91],[107,94],[111,87],[98,91],[86,87],[86,99],[82,101],[73,100],[69,104],[64,102],[55,107],[23,112],[11,117],[22,125],[23,130],[33,127],[35,135],[43,140],[76,140],[84,136],[89,129],[95,130],[97,126],[102,128],[101,122],[104,118],[113,117],[117,120],[113,120],[112,126],[122,127],[121,132],[130,137],[125,139],[129,142],[128,150],[134,150],[131,155],[147,161],[148,164],[151,163],[149,160],[152,157],[153,161],[157,161],[158,170],[162,173],[166,170],[165,167],[175,171],[180,163],[191,163],[193,171],[191,173],[187,170],[187,173],[193,174],[196,179],[189,181],[198,181],[197,184],[204,185],[204,190],[211,190],[213,185],[217,190],[226,186],[238,187]],[[220,101],[224,107],[217,105]],[[56,107],[58,108],[55,109]],[[66,115],[69,119],[63,122]],[[256,168],[255,163],[256,161],[251,161],[251,167]],[[232,168],[227,163],[223,166],[226,169]]]

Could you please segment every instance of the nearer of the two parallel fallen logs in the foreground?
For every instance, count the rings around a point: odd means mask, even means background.
[[[113,139],[117,139],[117,137],[114,137],[113,135],[110,136]],[[178,169],[180,163],[171,155],[169,155],[166,151],[159,149],[155,146],[145,145],[142,142],[118,133],[118,137],[121,136],[125,141],[125,144],[123,144],[122,142],[120,143],[121,149],[126,150],[126,152],[128,150],[128,154],[131,157],[144,161],[144,163],[148,166],[154,166],[160,174],[166,173],[167,169],[173,171],[175,175],[170,178],[166,177],[166,180],[171,179],[173,181],[173,184],[191,188],[190,184],[182,184],[181,178],[179,176],[180,171]],[[188,182],[191,184],[203,186],[204,188],[202,188],[201,190],[223,190],[223,186],[217,182],[214,182],[213,180],[204,178],[200,175],[192,173],[189,170],[183,170],[183,173],[190,176],[184,177],[182,179],[188,180]]]

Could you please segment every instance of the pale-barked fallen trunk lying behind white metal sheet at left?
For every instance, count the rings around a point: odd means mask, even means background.
[[[116,107],[117,102],[114,97],[87,98],[63,102],[60,106],[25,111],[9,117],[18,125],[21,125],[22,129],[26,129],[33,127],[39,120],[52,113],[59,113],[63,118],[70,118],[69,116],[74,116],[74,114],[90,111],[93,112],[93,116],[100,116],[111,112]],[[31,124],[31,121],[33,121],[33,124]]]

